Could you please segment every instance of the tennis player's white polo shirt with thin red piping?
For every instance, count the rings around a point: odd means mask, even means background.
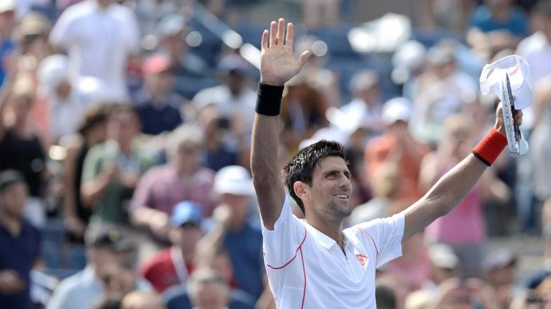
[[[292,214],[289,196],[273,231],[262,225],[264,264],[280,309],[376,308],[375,268],[402,255],[404,215],[343,230],[343,247]]]

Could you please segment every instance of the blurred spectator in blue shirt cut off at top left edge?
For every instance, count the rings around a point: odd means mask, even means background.
[[[15,26],[15,4],[15,0],[4,0],[0,3],[0,86],[15,69],[15,59],[11,55],[15,48],[11,36]]]

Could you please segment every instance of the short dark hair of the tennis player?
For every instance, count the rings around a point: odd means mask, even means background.
[[[305,213],[304,203],[294,193],[293,184],[301,181],[312,185],[314,168],[326,157],[341,157],[344,161],[347,161],[346,150],[341,143],[322,140],[299,150],[283,168],[282,174],[285,187],[287,187],[289,194],[297,202],[303,213]]]

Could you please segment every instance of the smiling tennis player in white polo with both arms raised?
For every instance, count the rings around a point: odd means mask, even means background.
[[[308,52],[293,56],[291,23],[271,22],[262,34],[251,168],[270,287],[280,309],[376,308],[375,268],[400,257],[404,241],[449,213],[507,145],[501,103],[494,128],[423,198],[392,217],[343,230],[352,185],[342,145],[314,143],[299,150],[283,173],[278,170],[283,85],[307,58]],[[515,117],[522,121],[522,113]],[[285,187],[306,219],[292,214]]]

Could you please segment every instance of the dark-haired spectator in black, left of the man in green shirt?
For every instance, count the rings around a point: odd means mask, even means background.
[[[84,229],[90,222],[92,209],[81,199],[82,172],[88,150],[107,139],[107,120],[109,106],[97,106],[88,110],[83,122],[79,124],[79,134],[65,136],[60,145],[67,150],[63,161],[64,187],[63,215],[64,224],[70,233],[70,239],[83,243]]]

